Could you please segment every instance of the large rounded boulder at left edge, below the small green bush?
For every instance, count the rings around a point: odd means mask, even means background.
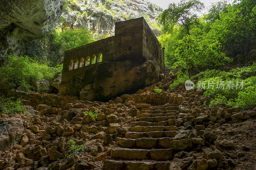
[[[24,126],[21,119],[5,117],[0,120],[0,151],[12,149],[18,144],[23,133]]]

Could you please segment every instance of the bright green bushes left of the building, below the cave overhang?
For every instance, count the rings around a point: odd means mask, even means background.
[[[62,70],[62,65],[49,67],[50,63],[40,63],[28,56],[10,55],[7,63],[0,68],[1,83],[11,83],[15,88],[21,86],[24,90],[32,90],[32,81],[45,79],[50,81]]]

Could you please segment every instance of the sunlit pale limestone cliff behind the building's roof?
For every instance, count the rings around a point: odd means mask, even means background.
[[[157,35],[160,32],[155,18],[161,11],[145,0],[67,0],[58,26],[62,30],[86,26],[97,35],[110,36],[115,32],[116,22],[143,16]]]

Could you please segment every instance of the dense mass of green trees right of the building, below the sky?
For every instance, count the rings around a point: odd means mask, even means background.
[[[232,62],[231,58],[238,54],[248,55],[250,42],[256,38],[253,1],[241,0],[232,5],[220,1],[207,14],[197,17],[201,5],[197,1],[170,4],[157,18],[164,33],[159,41],[165,47],[167,66],[210,68]]]

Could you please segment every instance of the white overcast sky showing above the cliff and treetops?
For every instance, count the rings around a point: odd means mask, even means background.
[[[171,4],[171,3],[179,3],[180,2],[180,0],[148,0],[149,2],[151,2],[151,3],[154,3],[154,4],[156,4],[157,6],[160,6],[161,8],[163,8],[164,10],[166,9],[166,8],[168,8],[168,6],[169,6],[169,4]],[[205,10],[203,11],[203,13],[204,12],[207,12],[207,8],[209,7],[209,6],[211,6],[211,4],[212,3],[216,3],[216,2],[218,2],[218,1],[221,1],[221,0],[200,0],[202,3],[204,3],[204,6],[205,6]],[[233,1],[233,0],[229,0],[229,2],[231,2],[231,1]]]

